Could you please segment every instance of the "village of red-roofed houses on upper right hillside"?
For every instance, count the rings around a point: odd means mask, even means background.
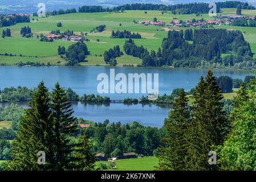
[[[246,20],[255,20],[255,16],[242,16],[236,14],[230,15],[217,15],[214,16],[214,20],[196,20],[196,19],[188,19],[186,22],[182,20],[178,20],[178,18],[174,17],[173,20],[169,23],[165,23],[163,20],[139,20],[136,23],[143,24],[144,26],[173,26],[173,27],[201,27],[206,28],[210,25],[231,25],[235,19],[246,19]]]

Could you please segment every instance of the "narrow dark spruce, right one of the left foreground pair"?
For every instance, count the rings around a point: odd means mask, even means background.
[[[74,111],[68,102],[66,91],[60,88],[59,83],[52,90],[52,125],[53,125],[53,141],[55,160],[52,166],[55,170],[72,169],[70,162],[73,160],[72,151],[74,145],[70,144],[68,136],[75,133],[76,127],[72,126],[75,118],[72,117]]]

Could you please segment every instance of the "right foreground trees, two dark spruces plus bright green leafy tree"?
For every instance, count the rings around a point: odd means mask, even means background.
[[[255,170],[255,84],[251,80],[241,85],[229,115],[223,111],[221,89],[211,71],[201,77],[192,105],[181,91],[165,120],[167,133],[161,139],[157,169]],[[216,162],[209,160],[213,155]]]

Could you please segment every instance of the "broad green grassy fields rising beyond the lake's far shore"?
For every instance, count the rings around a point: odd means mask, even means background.
[[[222,14],[235,14],[235,9],[222,9]],[[191,15],[173,15],[170,12],[161,14],[161,11],[125,11],[124,13],[74,13],[58,16],[50,16],[47,18],[38,18],[37,20],[32,20],[31,23],[19,23],[15,26],[11,26],[12,37],[2,39],[0,38],[0,52],[1,53],[12,53],[13,57],[0,56],[0,64],[16,64],[19,61],[27,62],[39,62],[57,64],[60,61],[60,65],[64,64],[64,60],[60,59],[57,53],[58,46],[68,47],[72,43],[64,42],[58,40],[55,42],[40,42],[36,38],[36,35],[44,34],[48,35],[50,31],[59,29],[60,31],[73,30],[77,34],[80,32],[87,32],[87,38],[91,41],[86,43],[91,55],[88,57],[88,61],[82,63],[82,65],[104,65],[102,57],[104,51],[112,48],[113,46],[119,45],[123,49],[125,39],[112,39],[112,30],[129,30],[132,32],[139,32],[145,39],[136,39],[135,43],[138,46],[143,45],[147,49],[157,50],[161,46],[162,39],[166,37],[167,32],[162,30],[162,27],[156,26],[143,26],[141,24],[133,23],[137,20],[152,20],[157,18],[159,20],[164,20],[165,22],[170,22],[173,18],[178,18],[180,20],[187,19],[201,19],[206,20],[213,19],[208,14],[202,14],[196,16],[196,14]],[[243,10],[245,15],[256,15],[256,10]],[[56,23],[62,22],[63,27],[57,27]],[[119,24],[121,23],[121,26]],[[100,24],[105,24],[107,30],[103,32],[90,33],[90,31],[99,26]],[[34,34],[34,38],[21,38],[19,31],[21,27],[30,26]],[[215,26],[216,28],[227,28],[234,30],[241,30],[244,32],[245,39],[250,43],[251,49],[256,53],[256,28],[255,27],[233,27],[233,26]],[[0,32],[6,27],[0,28]],[[185,29],[185,28],[182,28]],[[100,41],[97,42],[96,40]],[[26,57],[20,57],[22,54]],[[97,56],[95,56],[97,55]],[[33,57],[27,57],[33,56]],[[35,57],[36,56],[36,57]],[[256,55],[255,55],[256,57]],[[123,56],[117,59],[119,65],[123,64],[139,64],[141,60],[133,59],[132,57]]]

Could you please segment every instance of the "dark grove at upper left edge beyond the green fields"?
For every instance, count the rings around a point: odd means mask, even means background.
[[[9,27],[17,23],[30,23],[30,17],[25,15],[0,15],[0,27]]]

